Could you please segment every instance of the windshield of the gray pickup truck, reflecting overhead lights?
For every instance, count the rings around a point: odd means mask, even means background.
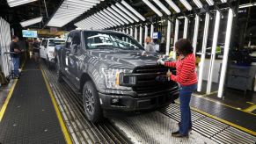
[[[84,39],[87,48],[121,48],[121,49],[142,49],[143,47],[134,39],[122,33],[115,32],[84,32]]]

